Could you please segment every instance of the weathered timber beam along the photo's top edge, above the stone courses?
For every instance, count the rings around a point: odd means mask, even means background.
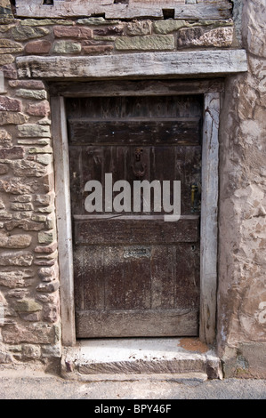
[[[172,9],[175,19],[228,19],[231,16],[229,0],[206,0],[204,3],[185,4],[184,0],[134,1],[114,4],[114,0],[54,0],[53,5],[43,0],[16,0],[18,17],[69,18],[104,15],[106,19],[164,18],[163,10]]]

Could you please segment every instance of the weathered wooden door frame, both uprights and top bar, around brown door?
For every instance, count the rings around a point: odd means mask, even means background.
[[[200,321],[202,342],[214,343],[217,292],[219,115],[222,79],[141,80],[57,83],[51,85],[52,138],[60,265],[62,343],[76,344],[73,246],[70,213],[69,145],[65,97],[90,95],[204,95],[202,205],[200,232]]]

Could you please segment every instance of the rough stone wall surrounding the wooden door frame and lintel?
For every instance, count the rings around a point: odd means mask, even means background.
[[[61,337],[49,90],[44,80],[19,78],[16,58],[239,47],[239,7],[234,25],[233,20],[17,19],[9,2],[1,2],[0,364],[52,370],[60,361]],[[262,375],[265,7],[259,0],[243,3],[249,72],[227,79],[220,135],[217,340],[227,375]],[[254,350],[260,367],[252,364]]]

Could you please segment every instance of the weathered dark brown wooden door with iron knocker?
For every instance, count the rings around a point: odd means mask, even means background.
[[[67,99],[78,338],[197,335],[201,101]],[[165,221],[154,211],[152,189],[150,212],[133,205],[107,212],[106,173],[112,184],[132,187],[181,181],[181,219]],[[102,185],[101,213],[85,210],[91,180]]]

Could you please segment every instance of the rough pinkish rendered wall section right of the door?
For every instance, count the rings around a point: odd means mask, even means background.
[[[221,118],[218,347],[228,376],[266,375],[266,6],[243,2],[248,73]]]

